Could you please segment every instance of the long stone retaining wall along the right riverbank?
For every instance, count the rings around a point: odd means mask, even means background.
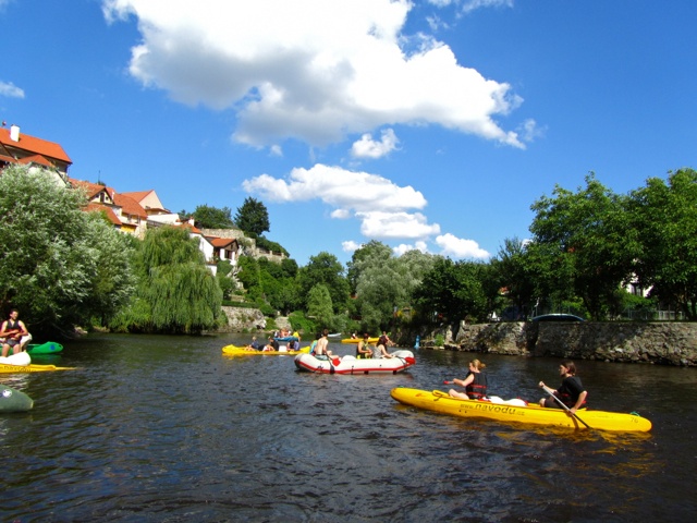
[[[500,323],[461,325],[445,350],[697,366],[697,324]]]

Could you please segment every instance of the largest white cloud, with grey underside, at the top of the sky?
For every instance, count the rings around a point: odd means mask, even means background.
[[[405,34],[413,7],[409,0],[102,3],[109,22],[137,21],[142,41],[130,73],[176,101],[234,110],[237,142],[327,145],[384,124],[427,123],[524,147],[496,121],[521,102],[510,85],[463,66],[432,36]]]

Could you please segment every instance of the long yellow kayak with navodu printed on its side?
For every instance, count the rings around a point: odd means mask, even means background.
[[[647,433],[651,429],[651,422],[637,414],[616,412],[588,411],[576,412],[576,417],[561,409],[543,409],[529,404],[517,406],[522,400],[500,402],[482,400],[462,400],[451,398],[447,392],[396,388],[390,392],[400,403],[417,406],[429,411],[441,412],[460,417],[480,417],[497,422],[524,423],[529,425],[548,425],[553,427],[568,427],[577,429],[594,428],[598,430]],[[582,423],[579,419],[583,419]]]

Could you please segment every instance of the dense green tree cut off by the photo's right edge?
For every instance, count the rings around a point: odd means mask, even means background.
[[[651,296],[697,319],[697,172],[651,178],[631,193],[629,215],[640,245],[635,273]]]

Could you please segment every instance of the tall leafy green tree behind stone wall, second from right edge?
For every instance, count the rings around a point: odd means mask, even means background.
[[[594,319],[604,319],[632,277],[636,248],[626,199],[590,173],[576,193],[558,185],[552,197],[542,196],[531,206],[535,241],[551,246],[562,265],[573,266],[574,291]]]

